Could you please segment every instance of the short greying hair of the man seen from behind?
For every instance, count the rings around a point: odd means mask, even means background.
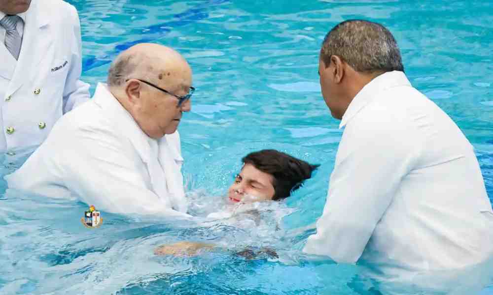
[[[399,47],[390,31],[369,21],[348,20],[331,29],[320,50],[326,67],[332,56],[338,56],[357,72],[404,72]]]

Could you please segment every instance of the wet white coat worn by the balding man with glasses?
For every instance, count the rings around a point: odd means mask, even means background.
[[[93,99],[61,118],[5,179],[9,189],[75,197],[98,210],[184,216],[182,162],[177,131],[149,138],[106,85],[98,84]]]

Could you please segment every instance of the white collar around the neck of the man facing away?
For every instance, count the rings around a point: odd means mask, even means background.
[[[342,116],[339,128],[346,126],[359,111],[370,104],[377,97],[376,94],[378,92],[396,86],[411,86],[404,72],[392,71],[383,73],[370,81],[352,99],[346,113]]]

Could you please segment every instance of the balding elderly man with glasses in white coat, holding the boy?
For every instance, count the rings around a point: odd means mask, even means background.
[[[129,48],[111,64],[107,85],[5,177],[9,188],[115,213],[186,216],[177,127],[190,111],[191,85],[192,70],[173,49]]]

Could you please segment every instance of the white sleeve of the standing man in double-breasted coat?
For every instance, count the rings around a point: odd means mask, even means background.
[[[69,72],[63,90],[63,113],[67,113],[79,104],[89,100],[89,84],[80,81],[82,73],[82,40],[80,36],[80,21],[77,10],[70,6],[73,26],[72,55],[69,60]]]

